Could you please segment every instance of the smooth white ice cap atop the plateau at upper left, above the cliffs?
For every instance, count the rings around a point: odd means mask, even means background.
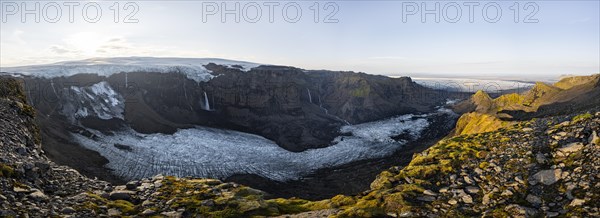
[[[179,72],[197,82],[208,81],[214,77],[204,65],[215,63],[228,67],[240,66],[240,70],[248,71],[259,64],[232,61],[216,58],[154,58],[154,57],[120,57],[92,58],[81,61],[66,61],[54,64],[22,67],[3,67],[0,71],[13,75],[25,75],[42,78],[69,77],[77,74],[97,74],[110,76],[121,72]]]

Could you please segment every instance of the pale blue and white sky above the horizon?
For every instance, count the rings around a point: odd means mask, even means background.
[[[153,56],[390,76],[586,75],[600,72],[599,2],[0,0],[0,66]]]

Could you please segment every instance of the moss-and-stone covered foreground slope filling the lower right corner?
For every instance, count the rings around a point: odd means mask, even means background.
[[[599,216],[598,132],[595,112],[445,139],[382,172],[339,216]]]

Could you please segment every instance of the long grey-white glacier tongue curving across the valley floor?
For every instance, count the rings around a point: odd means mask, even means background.
[[[404,145],[391,137],[419,136],[429,125],[426,116],[404,115],[383,121],[346,126],[352,136],[339,136],[333,145],[289,152],[261,136],[206,127],[179,130],[173,135],[140,134],[133,130],[100,136],[95,141],[73,134],[78,143],[109,160],[107,167],[126,179],[156,174],[226,178],[256,174],[278,181],[298,179],[314,170],[361,159],[384,157]],[[131,147],[131,151],[115,144]]]

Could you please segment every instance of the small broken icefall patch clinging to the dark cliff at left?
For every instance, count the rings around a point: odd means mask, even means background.
[[[71,86],[62,93],[62,114],[72,122],[77,118],[96,116],[100,119],[124,119],[123,97],[115,92],[107,82],[99,82],[89,87]]]

